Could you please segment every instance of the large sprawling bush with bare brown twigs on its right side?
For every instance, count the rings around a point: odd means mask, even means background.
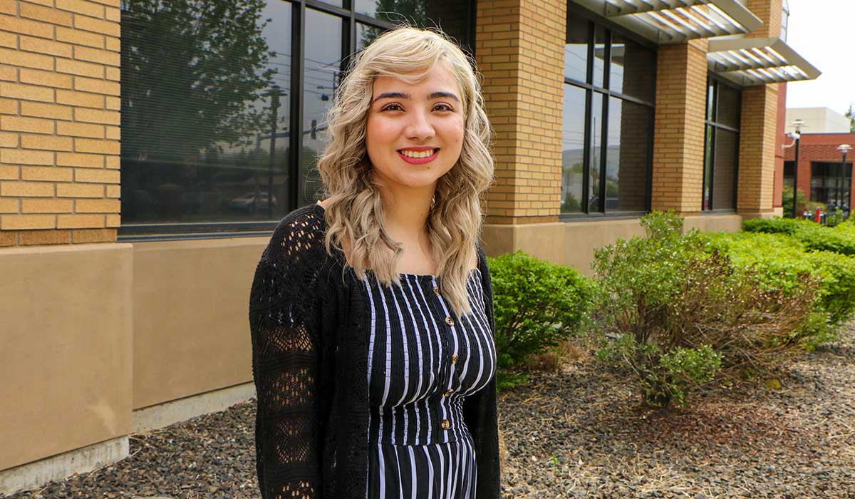
[[[789,287],[739,268],[682,219],[654,212],[646,237],[595,252],[598,296],[593,324],[598,359],[630,372],[643,401],[684,405],[691,389],[722,377],[739,380],[802,350],[817,280],[797,274]]]

